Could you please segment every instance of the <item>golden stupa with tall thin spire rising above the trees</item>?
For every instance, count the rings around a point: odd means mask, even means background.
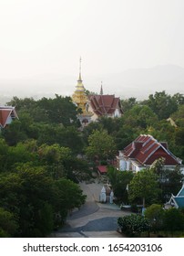
[[[81,79],[81,58],[79,62],[79,78],[77,80],[76,91],[72,95],[72,101],[77,105],[77,109],[82,110],[82,115],[88,114],[87,112],[87,94],[85,92],[85,87]]]

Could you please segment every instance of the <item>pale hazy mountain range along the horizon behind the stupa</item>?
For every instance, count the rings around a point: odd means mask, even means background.
[[[88,91],[99,93],[101,80],[107,94],[115,94],[122,99],[135,97],[138,100],[148,98],[155,91],[184,93],[184,69],[176,65],[156,66],[150,69],[128,69],[117,74],[85,76],[84,86]],[[54,97],[55,93],[70,96],[76,89],[77,75],[47,75],[27,80],[0,80],[0,105],[5,98],[17,97]]]

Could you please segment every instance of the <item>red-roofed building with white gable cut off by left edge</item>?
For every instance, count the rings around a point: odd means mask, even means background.
[[[0,106],[0,129],[5,128],[5,126],[12,123],[15,119],[18,119],[15,107]]]

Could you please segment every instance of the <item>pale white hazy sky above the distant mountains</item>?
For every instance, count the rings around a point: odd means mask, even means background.
[[[0,80],[184,68],[183,0],[0,0]],[[76,82],[76,80],[75,80]]]

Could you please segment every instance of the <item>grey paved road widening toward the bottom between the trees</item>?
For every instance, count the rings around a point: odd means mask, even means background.
[[[80,187],[87,195],[87,202],[68,216],[65,227],[53,233],[52,237],[122,237],[117,232],[117,219],[128,213],[120,210],[115,204],[98,203],[103,187],[98,181],[92,184],[81,183]]]

